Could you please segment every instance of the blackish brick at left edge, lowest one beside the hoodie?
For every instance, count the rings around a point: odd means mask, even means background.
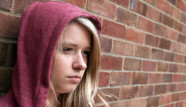
[[[12,70],[10,68],[0,68],[0,93],[8,93],[12,86]]]

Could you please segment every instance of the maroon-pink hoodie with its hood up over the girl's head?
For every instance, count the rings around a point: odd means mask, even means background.
[[[64,27],[77,17],[90,19],[100,34],[99,20],[72,4],[34,2],[23,13],[12,88],[0,98],[0,107],[45,107],[57,41]]]

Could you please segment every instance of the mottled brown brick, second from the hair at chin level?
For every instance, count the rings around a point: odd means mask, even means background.
[[[138,87],[137,86],[124,86],[120,88],[120,99],[131,99],[138,97]]]

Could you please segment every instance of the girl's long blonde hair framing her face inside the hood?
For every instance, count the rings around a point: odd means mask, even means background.
[[[98,67],[100,65],[100,41],[97,29],[89,19],[83,17],[76,18],[70,23],[78,23],[91,33],[91,53],[88,58],[87,69],[76,89],[71,93],[60,94],[58,98],[55,95],[55,90],[53,88],[53,83],[51,80],[49,96],[54,96],[60,107],[95,107],[96,96],[100,98],[107,107],[109,107],[106,101],[97,93]],[[68,25],[66,26],[66,28],[68,27]],[[60,43],[62,42],[63,33],[58,42],[58,46],[56,47],[56,51],[61,46]],[[53,69],[55,69],[55,60],[53,62],[52,70]],[[49,100],[47,100],[46,106],[51,107]]]

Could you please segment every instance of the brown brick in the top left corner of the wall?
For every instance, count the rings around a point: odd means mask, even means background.
[[[0,8],[4,10],[12,10],[12,0],[1,0]]]

